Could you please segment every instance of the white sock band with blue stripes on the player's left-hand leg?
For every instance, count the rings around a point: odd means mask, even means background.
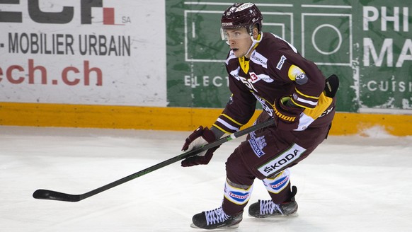
[[[224,183],[224,198],[234,204],[246,204],[251,198],[252,190],[253,185],[236,185],[234,182],[226,179]]]

